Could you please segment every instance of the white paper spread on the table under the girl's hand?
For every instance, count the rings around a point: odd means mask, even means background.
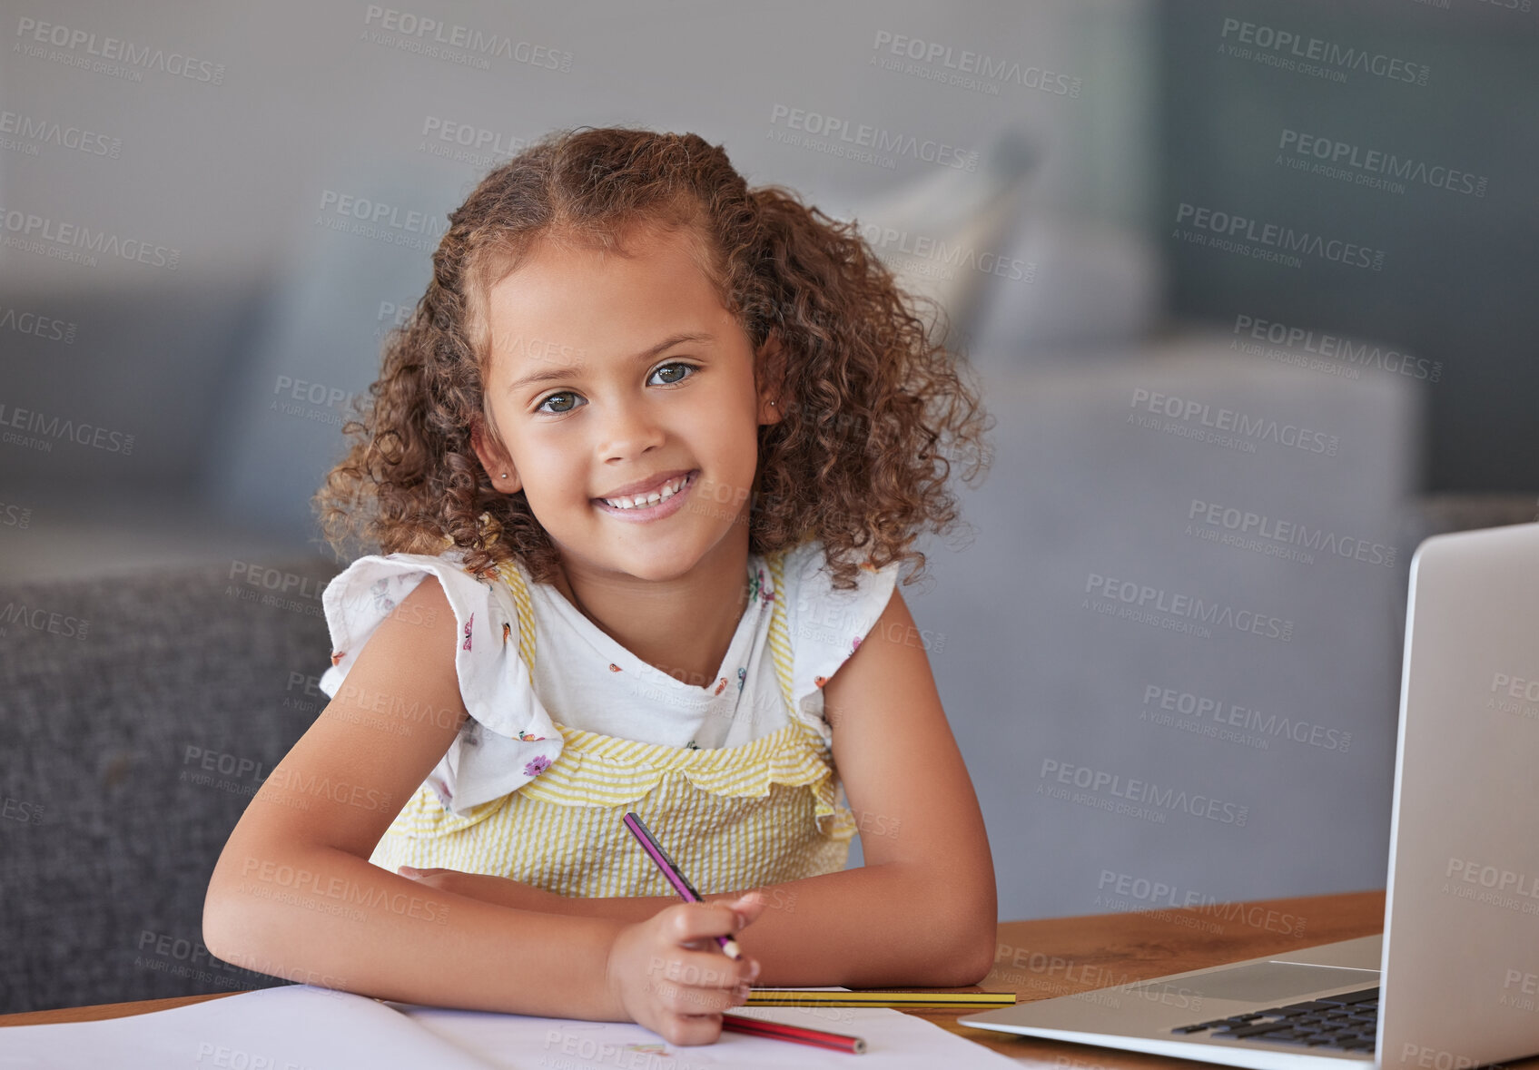
[[[830,989],[837,992],[837,989]],[[677,1047],[631,1022],[588,1022],[369,999],[306,984],[151,1015],[0,1028],[3,1070],[1003,1070],[1013,1059],[885,1007],[737,1007],[862,1036],[865,1055],[743,1033]],[[857,1062],[850,1062],[857,1059]]]

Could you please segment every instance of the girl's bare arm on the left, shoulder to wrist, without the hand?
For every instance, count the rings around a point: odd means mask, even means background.
[[[385,999],[625,1019],[606,984],[619,919],[496,906],[368,861],[468,716],[456,640],[428,577],[246,807],[209,879],[205,944],[263,973]]]

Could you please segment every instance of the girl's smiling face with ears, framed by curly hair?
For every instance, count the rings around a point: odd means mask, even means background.
[[[780,415],[686,235],[636,229],[626,251],[539,244],[491,287],[486,394],[508,454],[472,441],[568,569],[671,580],[746,552],[757,427]]]

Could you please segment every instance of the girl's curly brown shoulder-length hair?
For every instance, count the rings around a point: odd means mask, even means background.
[[[536,581],[556,578],[559,550],[523,492],[496,490],[471,443],[480,427],[502,446],[483,390],[488,292],[539,240],[617,249],[633,226],[694,237],[697,264],[753,343],[756,383],[777,381],[783,417],[759,427],[749,552],[822,540],[836,587],[897,560],[916,560],[914,581],[919,532],[957,521],[953,458],[968,481],[988,466],[993,418],[959,375],[965,355],[931,340],[920,298],[856,223],[780,186],[749,189],[696,134],[629,128],[548,134],[449,214],[432,280],[386,337],[380,378],[342,427],[348,454],[314,497],[326,541],[345,552],[360,535],[380,553],[431,555],[452,544],[479,578],[514,557]]]

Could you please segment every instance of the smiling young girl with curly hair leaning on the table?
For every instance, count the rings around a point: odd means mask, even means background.
[[[749,981],[977,982],[993,861],[896,572],[986,423],[914,298],[693,134],[554,134],[449,223],[317,495],[383,555],[325,590],[332,701],[208,947],[674,1044]]]

